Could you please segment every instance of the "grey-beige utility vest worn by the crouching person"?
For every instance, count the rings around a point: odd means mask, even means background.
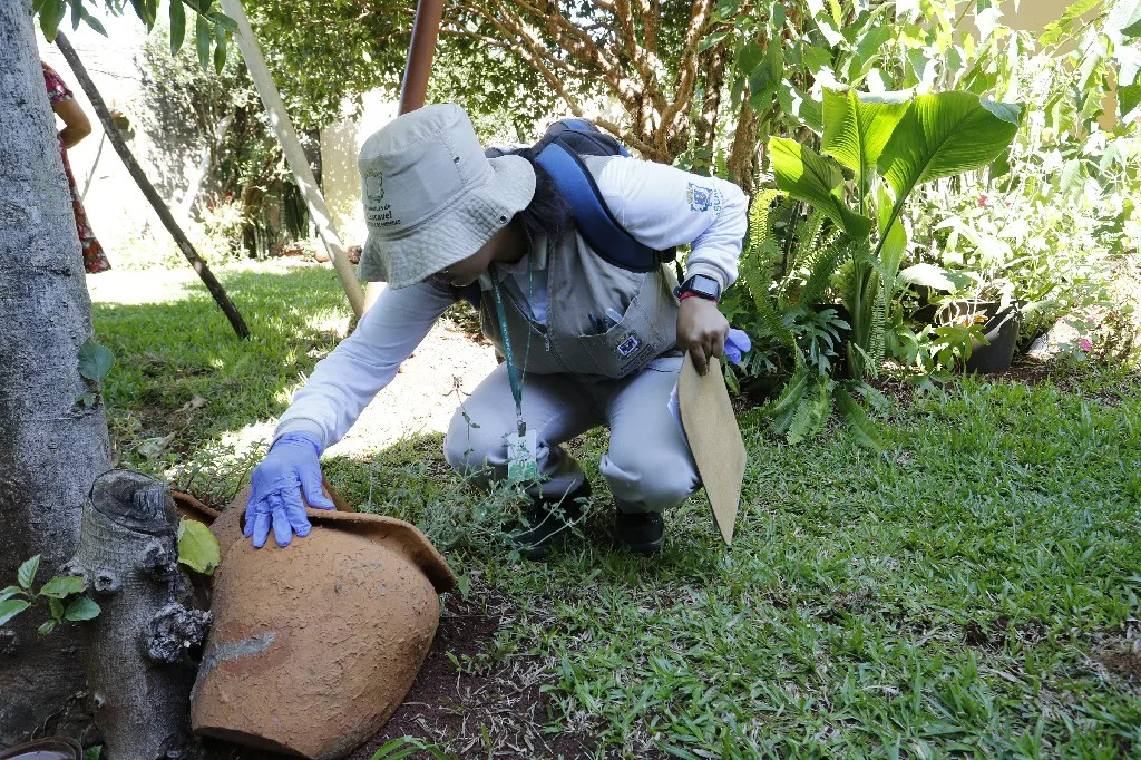
[[[607,159],[586,162],[597,175]],[[527,316],[507,288],[500,288],[515,362],[527,372],[624,378],[674,349],[678,299],[671,267],[629,272],[594,253],[573,226],[560,240],[536,238],[547,246],[547,324]],[[483,282],[483,278],[482,278]],[[503,355],[495,299],[484,284],[479,321]],[[622,316],[600,329],[607,309]],[[526,350],[528,335],[529,351]]]

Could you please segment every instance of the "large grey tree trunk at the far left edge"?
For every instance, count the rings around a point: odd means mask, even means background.
[[[91,302],[33,34],[31,0],[0,2],[0,585],[33,555],[42,582],[75,552],[110,459],[102,404],[75,403]],[[83,686],[74,628],[40,638],[41,622],[0,629],[0,746],[42,730]]]

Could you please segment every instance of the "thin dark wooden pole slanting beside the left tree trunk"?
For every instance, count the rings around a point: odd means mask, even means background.
[[[135,183],[143,191],[143,195],[146,200],[151,202],[159,218],[162,220],[162,225],[167,228],[167,232],[175,238],[178,243],[178,248],[183,251],[183,256],[186,260],[191,262],[194,270],[199,273],[199,277],[205,284],[207,290],[213,296],[213,299],[221,307],[222,313],[226,318],[229,320],[230,325],[234,328],[234,332],[237,333],[238,338],[249,338],[250,329],[245,326],[245,320],[238,314],[237,308],[234,306],[233,301],[229,300],[229,296],[226,294],[225,289],[222,289],[221,283],[218,282],[213,273],[210,272],[210,267],[207,262],[197,254],[194,246],[191,244],[189,238],[183,233],[181,227],[175,221],[175,217],[171,216],[170,209],[167,204],[162,202],[159,196],[159,192],[155,191],[154,185],[147,179],[146,175],[143,172],[143,168],[139,167],[138,161],[131,155],[130,148],[127,147],[127,143],[123,142],[122,135],[119,134],[119,128],[115,126],[114,121],[111,119],[111,112],[107,111],[107,104],[103,102],[103,96],[99,91],[95,89],[95,82],[87,74],[87,68],[83,67],[83,62],[79,59],[75,55],[75,48],[71,46],[67,38],[64,37],[63,32],[56,34],[56,46],[59,51],[64,54],[64,58],[67,59],[67,65],[71,66],[72,72],[75,74],[75,79],[79,80],[80,86],[83,91],[87,92],[88,99],[95,107],[95,113],[99,116],[99,122],[103,124],[103,131],[107,135],[107,139],[111,140],[111,145],[115,148],[115,153],[122,159],[123,164],[127,167],[127,171],[130,172],[131,177],[135,178]]]

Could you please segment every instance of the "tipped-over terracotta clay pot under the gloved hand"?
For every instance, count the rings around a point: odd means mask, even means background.
[[[309,509],[308,536],[254,549],[246,498],[211,526],[222,561],[191,722],[238,744],[343,757],[412,687],[455,576],[415,526],[379,515]]]

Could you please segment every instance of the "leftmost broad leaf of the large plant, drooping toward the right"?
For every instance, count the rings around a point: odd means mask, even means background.
[[[811,203],[848,233],[861,237],[872,229],[872,220],[853,213],[843,200],[844,177],[840,167],[795,140],[774,137],[769,156],[777,187]]]

